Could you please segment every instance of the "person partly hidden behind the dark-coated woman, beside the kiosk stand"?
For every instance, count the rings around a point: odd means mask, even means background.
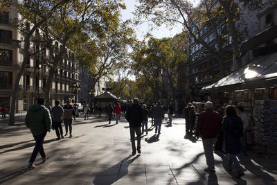
[[[247,131],[247,127],[249,125],[248,116],[244,112],[244,107],[238,106],[238,109],[236,109],[236,110],[237,110],[238,116],[240,116],[240,118],[242,119],[242,123],[243,123],[243,136],[240,138],[240,146],[241,146],[241,149],[242,149],[242,153],[245,156],[248,156],[247,155],[247,144],[245,142],[246,131]]]

